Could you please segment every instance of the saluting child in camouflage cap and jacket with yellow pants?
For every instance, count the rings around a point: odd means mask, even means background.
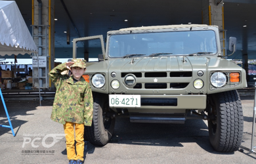
[[[91,126],[93,119],[93,96],[89,83],[82,75],[86,70],[86,60],[72,59],[53,68],[49,73],[56,87],[51,119],[64,125],[66,149],[69,163],[83,163],[84,125]],[[72,75],[62,75],[70,70]],[[74,128],[75,126],[75,128]],[[76,152],[74,146],[74,129]]]

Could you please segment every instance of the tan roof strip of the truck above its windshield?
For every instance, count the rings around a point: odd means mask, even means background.
[[[156,30],[156,29],[167,29],[167,28],[195,28],[195,27],[205,27],[209,26],[207,24],[177,24],[177,25],[165,25],[165,26],[142,26],[138,28],[121,28],[120,30],[115,30],[117,31],[129,31],[129,30]],[[213,27],[213,26],[211,26]],[[217,27],[218,26],[214,26]],[[110,31],[109,31],[110,32]]]

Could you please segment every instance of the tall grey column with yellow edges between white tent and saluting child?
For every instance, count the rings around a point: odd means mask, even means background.
[[[43,26],[37,26],[43,25]],[[39,56],[46,56],[46,67],[33,68],[34,87],[53,89],[48,73],[54,68],[54,0],[32,0],[32,35]]]

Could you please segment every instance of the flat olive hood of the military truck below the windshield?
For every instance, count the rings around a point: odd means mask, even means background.
[[[192,66],[205,68],[207,58],[194,56],[158,56],[145,58],[119,58],[114,60],[109,70],[121,72],[179,72],[192,71]]]

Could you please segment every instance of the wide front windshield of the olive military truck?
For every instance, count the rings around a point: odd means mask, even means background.
[[[136,56],[134,54],[144,54],[143,56],[138,55],[144,57],[151,54],[176,56],[197,52],[207,52],[202,55],[217,52],[214,31],[171,31],[112,35],[108,47],[108,56],[113,58],[129,56],[129,54],[133,54],[132,56]]]

